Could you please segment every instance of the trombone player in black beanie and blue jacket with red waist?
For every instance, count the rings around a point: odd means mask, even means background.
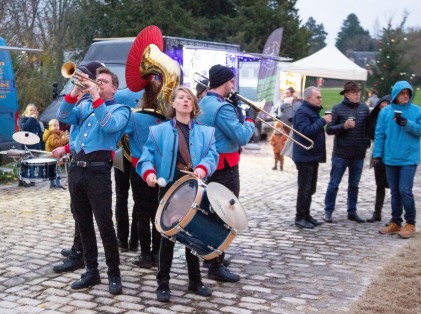
[[[209,90],[199,103],[201,114],[198,121],[215,128],[216,150],[219,161],[216,171],[209,182],[218,182],[235,196],[240,194],[240,146],[246,145],[254,133],[257,113],[254,109],[246,112],[246,120],[240,123],[236,108],[225,100],[234,89],[234,73],[226,66],[214,65],[209,69]],[[240,276],[230,271],[229,261],[224,260],[224,253],[211,260],[208,278],[217,281],[236,282]]]

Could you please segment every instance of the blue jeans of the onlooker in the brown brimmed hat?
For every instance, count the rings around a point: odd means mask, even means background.
[[[325,212],[332,214],[335,210],[336,196],[339,184],[348,168],[348,215],[357,212],[358,185],[363,171],[364,159],[344,159],[332,157],[330,181],[325,196]]]

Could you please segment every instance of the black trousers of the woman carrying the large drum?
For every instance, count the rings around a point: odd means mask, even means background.
[[[180,171],[176,170],[174,175],[174,180],[178,180],[184,174]],[[174,182],[170,182],[164,188],[159,189],[159,199],[162,199],[165,193],[171,188]],[[159,266],[158,266],[158,273],[156,275],[156,279],[158,281],[158,286],[160,284],[169,284],[170,282],[170,272],[172,266],[172,260],[174,257],[174,246],[175,243],[171,240],[162,237],[161,238],[161,246],[159,249]],[[199,258],[193,254],[191,254],[191,250],[186,247],[185,249],[186,254],[186,262],[187,262],[187,271],[189,275],[190,282],[197,282],[202,280],[200,274],[200,263]]]

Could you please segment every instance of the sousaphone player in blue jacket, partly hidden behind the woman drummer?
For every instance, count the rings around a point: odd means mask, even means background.
[[[140,105],[132,111],[126,134],[129,137],[132,159],[130,184],[133,193],[133,215],[137,217],[137,234],[140,241],[140,255],[133,262],[140,268],[158,266],[161,235],[155,228],[158,209],[158,187],[150,187],[136,172],[136,165],[142,156],[142,149],[148,139],[149,128],[167,119],[158,112],[157,97],[161,84],[158,80],[149,82],[144,90]]]

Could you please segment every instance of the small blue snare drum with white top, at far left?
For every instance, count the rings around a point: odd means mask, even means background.
[[[53,158],[33,158],[20,164],[21,178],[29,181],[53,180],[57,176],[57,161]]]

